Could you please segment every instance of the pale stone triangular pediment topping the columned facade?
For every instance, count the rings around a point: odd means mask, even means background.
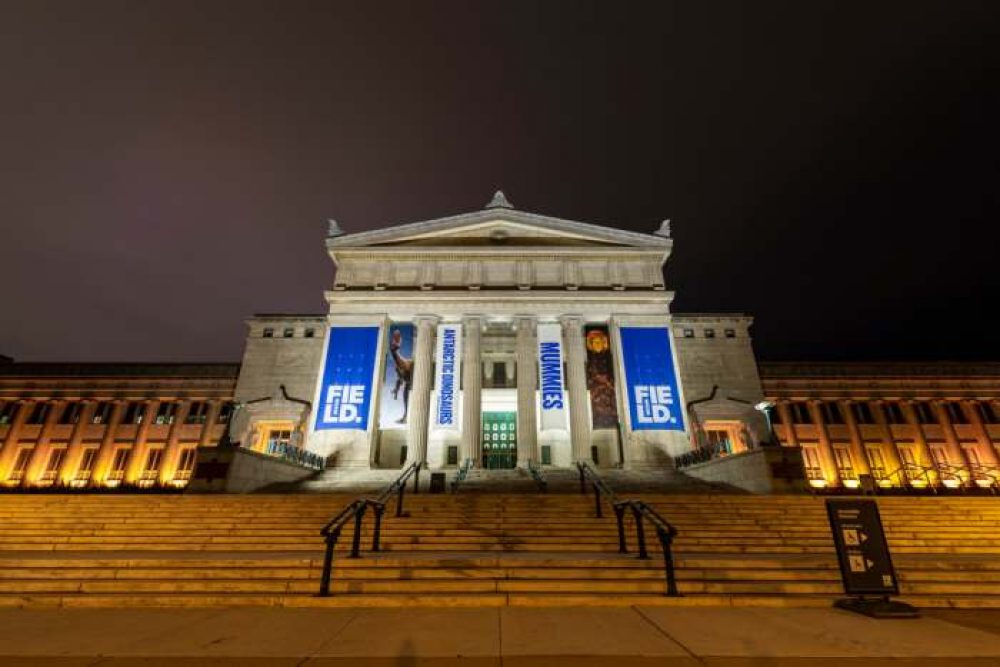
[[[333,248],[360,247],[669,247],[668,238],[517,211],[487,209],[436,220],[345,234],[327,240]]]

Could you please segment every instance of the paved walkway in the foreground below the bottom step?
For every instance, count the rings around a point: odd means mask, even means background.
[[[834,609],[0,611],[0,663],[251,665],[1000,665],[1000,613],[874,620]]]

